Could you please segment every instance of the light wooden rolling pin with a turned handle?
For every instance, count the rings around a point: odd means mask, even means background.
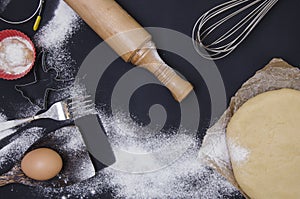
[[[126,62],[152,72],[181,102],[193,86],[158,55],[151,35],[113,0],[65,0]]]

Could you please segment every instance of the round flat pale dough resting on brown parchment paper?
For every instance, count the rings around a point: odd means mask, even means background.
[[[255,199],[300,198],[300,91],[248,100],[227,127],[234,176]]]

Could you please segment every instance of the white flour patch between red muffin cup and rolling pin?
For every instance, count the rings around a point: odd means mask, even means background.
[[[75,62],[67,44],[79,28],[78,15],[63,0],[59,0],[54,17],[35,35],[37,46],[48,51],[48,67],[55,68],[61,78],[74,76]]]

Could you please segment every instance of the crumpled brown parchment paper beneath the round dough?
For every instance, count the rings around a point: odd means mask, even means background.
[[[248,99],[260,93],[281,88],[300,90],[300,70],[282,59],[275,58],[242,85],[235,96],[231,98],[228,109],[218,122],[206,132],[199,152],[199,158],[202,162],[222,174],[241,192],[242,190],[239,188],[233,175],[226,145],[227,124],[233,114]]]

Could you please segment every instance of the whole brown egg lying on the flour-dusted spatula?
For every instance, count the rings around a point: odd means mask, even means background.
[[[48,148],[30,151],[21,162],[24,174],[34,180],[49,180],[60,172],[62,166],[60,155]]]

